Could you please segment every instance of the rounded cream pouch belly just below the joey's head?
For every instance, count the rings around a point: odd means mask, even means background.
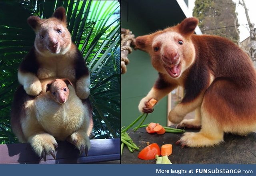
[[[57,140],[65,140],[83,123],[86,123],[86,112],[82,101],[74,96],[73,92],[68,101],[62,105],[48,96],[39,96],[35,101],[37,121],[46,132],[52,134]]]

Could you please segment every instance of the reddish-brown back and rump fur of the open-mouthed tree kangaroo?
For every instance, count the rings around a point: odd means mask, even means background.
[[[248,55],[221,37],[192,36],[192,39],[196,47],[204,51],[204,54],[197,57],[204,63],[204,67],[208,63],[207,69],[216,77],[206,91],[204,99],[209,101],[204,101],[204,107],[216,114],[220,125],[234,121],[230,114],[240,117],[235,121],[243,124],[255,121],[253,107],[256,103],[256,74]],[[208,45],[205,45],[206,42]]]

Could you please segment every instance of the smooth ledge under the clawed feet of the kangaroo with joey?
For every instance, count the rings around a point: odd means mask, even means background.
[[[2,164],[82,164],[104,163],[116,161],[120,163],[120,138],[119,139],[94,139],[86,157],[74,145],[58,141],[56,160],[51,155],[46,156],[46,162],[39,160],[30,144],[2,144],[0,145],[0,163]],[[114,163],[116,163],[114,162]]]

